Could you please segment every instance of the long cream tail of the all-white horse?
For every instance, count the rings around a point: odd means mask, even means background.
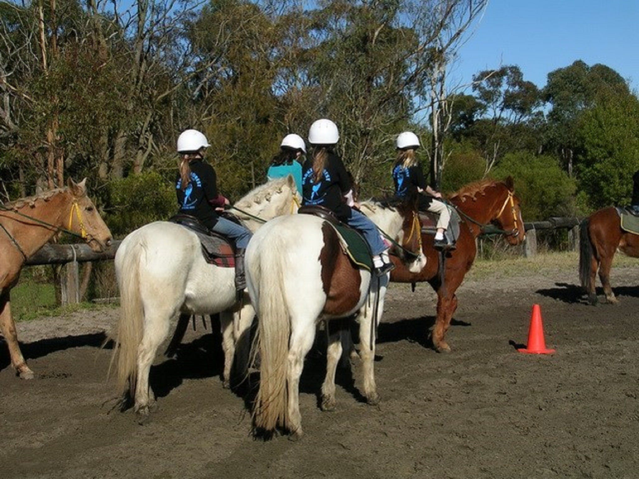
[[[118,254],[123,254],[118,257]],[[118,248],[116,276],[120,293],[120,316],[116,324],[116,342],[111,356],[109,373],[115,365],[116,387],[126,393],[127,381],[130,398],[134,399],[137,379],[137,348],[142,340],[144,309],[139,288],[140,259],[143,250],[139,243],[129,248]]]

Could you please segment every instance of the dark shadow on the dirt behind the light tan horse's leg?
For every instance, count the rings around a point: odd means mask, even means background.
[[[34,342],[20,342],[20,351],[25,360],[37,359],[47,356],[58,351],[66,349],[74,349],[76,347],[103,347],[112,349],[112,342],[106,342],[107,335],[104,331],[100,333],[88,333],[81,335],[68,335],[58,338],[45,338]],[[105,344],[106,342],[106,344]],[[6,340],[0,340],[0,371],[7,367],[11,367],[11,357],[9,356],[9,348],[6,346]]]

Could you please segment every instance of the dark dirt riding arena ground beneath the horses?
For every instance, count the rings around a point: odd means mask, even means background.
[[[591,307],[575,270],[467,280],[450,354],[426,342],[429,286],[391,285],[375,364],[380,406],[362,402],[355,363],[337,377],[337,411],[320,411],[324,358],[312,351],[298,443],[250,437],[243,398],[222,389],[217,336],[201,323],[177,358],[157,358],[159,407],[144,426],[112,409],[105,381],[111,351],[100,344],[117,308],[20,323],[36,379],[14,376],[0,342],[0,476],[636,478],[639,275],[613,270],[620,303]],[[534,303],[552,356],[515,350]]]

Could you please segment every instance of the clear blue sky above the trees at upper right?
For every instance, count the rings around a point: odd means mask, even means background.
[[[639,0],[489,0],[471,31],[453,84],[501,64],[520,66],[541,88],[548,73],[581,59],[610,66],[639,91]]]

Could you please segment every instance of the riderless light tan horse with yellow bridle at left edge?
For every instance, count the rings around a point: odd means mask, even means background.
[[[24,262],[60,231],[81,236],[96,252],[111,244],[111,232],[86,195],[85,182],[86,178],[77,184],[69,179],[67,188],[0,205],[0,332],[22,379],[33,379],[33,371],[20,352],[10,292]]]

